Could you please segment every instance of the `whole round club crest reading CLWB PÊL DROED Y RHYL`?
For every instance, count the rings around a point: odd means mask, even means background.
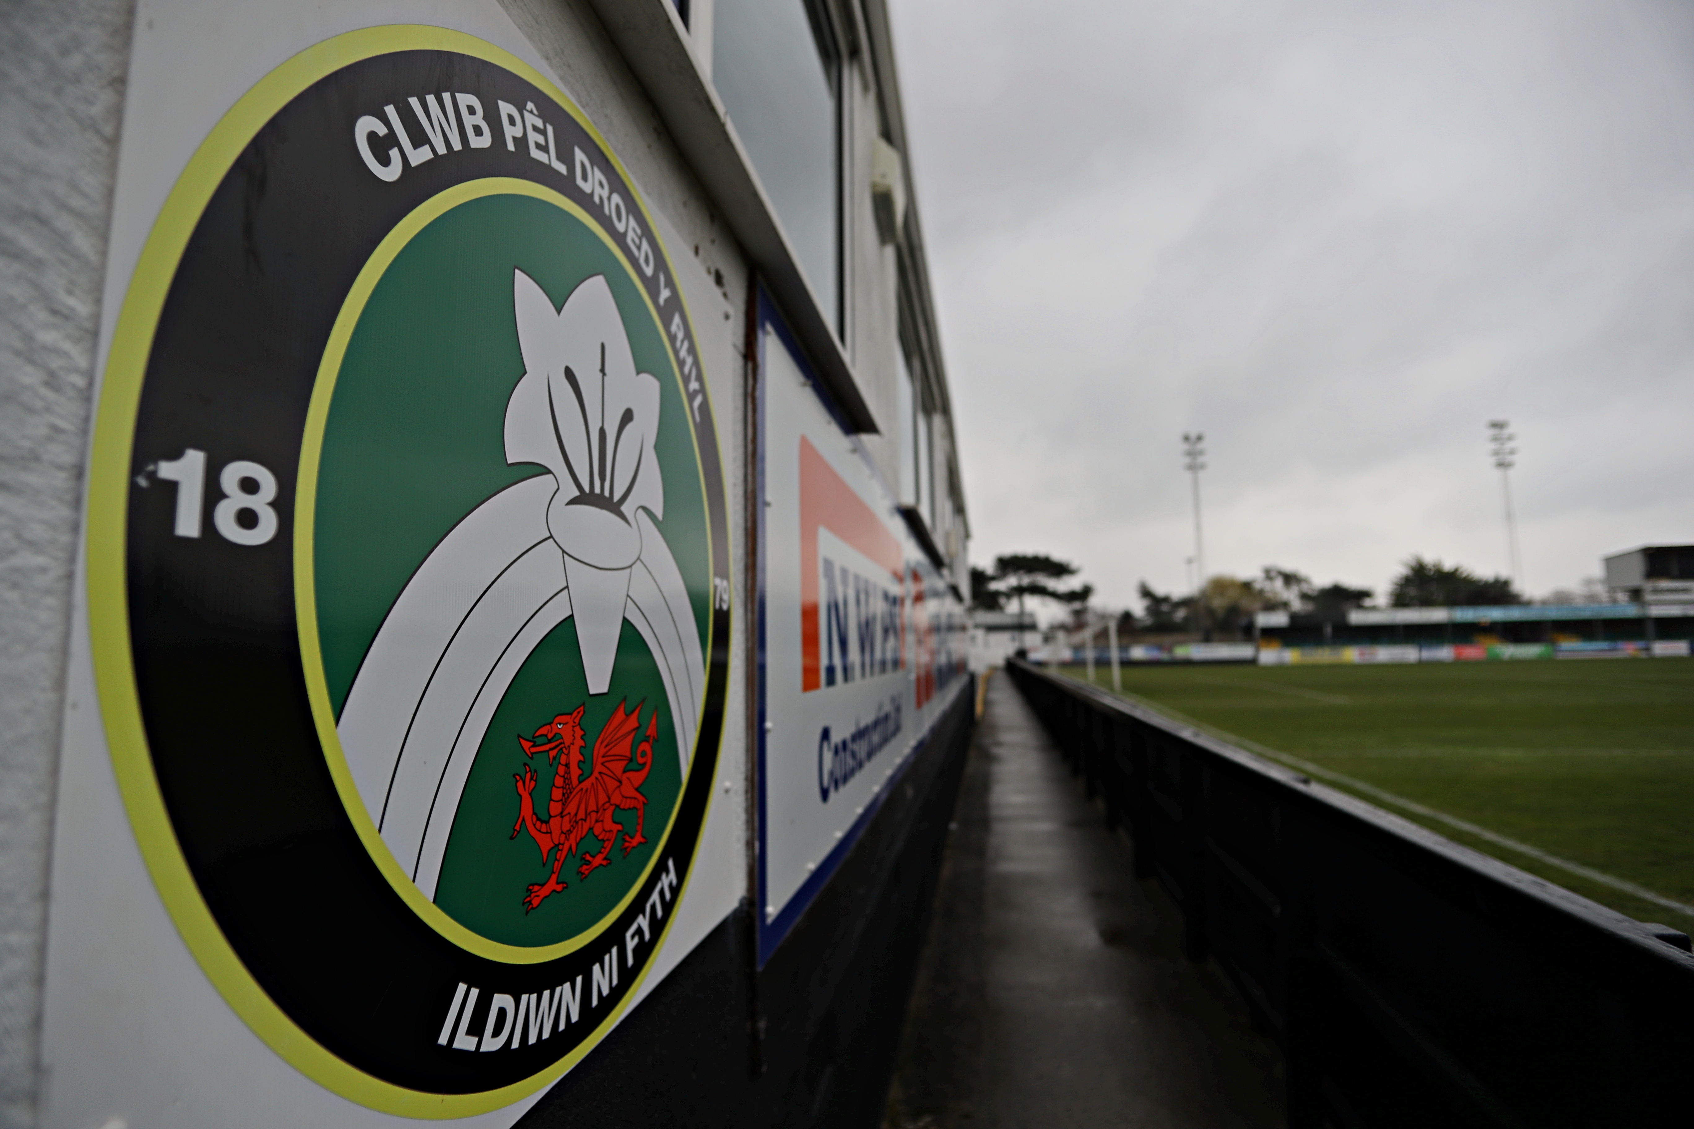
[[[730,630],[705,372],[662,220],[522,59],[364,29],[241,107],[171,191],[100,406],[113,767],[254,1033],[468,1117],[612,1029],[696,865]],[[383,107],[439,112],[432,161],[383,162]],[[549,149],[498,144],[508,112]],[[346,990],[373,953],[381,1024]]]

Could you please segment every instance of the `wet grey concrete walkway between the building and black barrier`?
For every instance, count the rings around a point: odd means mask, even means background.
[[[1281,1058],[1011,680],[966,768],[891,1129],[1281,1126]]]

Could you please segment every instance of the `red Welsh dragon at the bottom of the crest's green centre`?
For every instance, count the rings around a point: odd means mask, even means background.
[[[512,838],[529,828],[530,838],[540,848],[542,863],[552,855],[552,875],[545,882],[530,884],[523,895],[523,912],[542,904],[557,890],[566,889],[559,882],[559,870],[566,855],[574,855],[578,845],[586,836],[600,840],[600,853],[576,868],[578,877],[586,878],[588,872],[606,865],[612,845],[623,834],[625,858],[632,850],[647,841],[642,834],[642,823],[647,818],[647,797],[640,794],[640,785],[652,768],[652,738],[659,733],[659,709],[654,708],[647,723],[647,738],[635,746],[635,772],[627,772],[630,763],[630,743],[640,728],[640,706],[634,713],[625,713],[625,702],[612,711],[606,728],[595,740],[595,763],[583,775],[583,746],[588,743],[583,733],[583,706],[573,713],[559,714],[542,728],[535,730],[534,741],[518,738],[525,757],[547,753],[552,770],[552,796],[547,801],[547,818],[535,818],[535,768],[523,765],[523,772],[513,774],[518,782],[518,821],[512,828]],[[645,702],[644,702],[645,704]],[[635,809],[635,834],[628,834],[617,821],[618,809]]]

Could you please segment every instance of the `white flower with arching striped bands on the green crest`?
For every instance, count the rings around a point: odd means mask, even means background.
[[[612,687],[623,623],[640,633],[684,777],[705,694],[688,586],[657,526],[659,379],[635,371],[603,276],[559,310],[523,271],[512,291],[525,372],[507,401],[507,462],[549,474],[479,504],[418,565],[335,724],[366,811],[429,897],[495,709],[564,620],[590,694]]]

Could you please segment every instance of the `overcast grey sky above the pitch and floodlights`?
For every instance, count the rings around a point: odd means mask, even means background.
[[[1686,3],[891,0],[974,542],[1525,587],[1694,540]]]

